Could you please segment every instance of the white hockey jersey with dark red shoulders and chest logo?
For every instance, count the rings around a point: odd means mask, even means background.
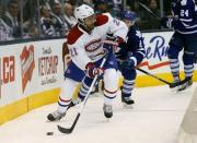
[[[109,13],[96,15],[95,27],[91,34],[83,31],[77,24],[68,35],[68,48],[73,63],[81,70],[85,70],[89,62],[95,62],[104,57],[103,43],[106,34],[126,38],[128,27]]]

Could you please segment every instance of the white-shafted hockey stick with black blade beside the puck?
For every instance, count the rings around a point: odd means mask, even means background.
[[[105,55],[105,57],[103,58],[103,61],[102,61],[100,68],[103,68],[103,65],[105,64],[106,56],[107,56],[107,55]],[[72,126],[71,126],[70,128],[63,128],[63,127],[61,127],[61,126],[57,126],[57,127],[58,127],[58,130],[59,130],[61,133],[69,134],[69,133],[71,133],[71,132],[73,131],[73,129],[74,129],[74,127],[76,127],[76,124],[77,124],[77,122],[78,122],[78,120],[79,120],[79,118],[80,118],[80,116],[81,116],[81,112],[82,112],[82,110],[83,110],[83,108],[84,108],[84,106],[85,106],[85,104],[86,104],[86,100],[88,100],[88,98],[89,98],[89,95],[90,95],[90,93],[91,93],[91,91],[92,91],[92,88],[93,88],[93,86],[94,86],[94,84],[95,84],[95,82],[96,82],[96,80],[97,80],[97,76],[99,76],[99,75],[95,75],[95,76],[94,76],[94,80],[93,80],[93,82],[92,82],[92,84],[91,84],[91,86],[90,86],[90,88],[89,88],[89,91],[88,91],[88,93],[86,93],[86,96],[85,96],[83,103],[82,103],[81,106],[80,106],[80,110],[79,110],[79,112],[78,112],[78,115],[77,115],[77,117],[76,117]]]

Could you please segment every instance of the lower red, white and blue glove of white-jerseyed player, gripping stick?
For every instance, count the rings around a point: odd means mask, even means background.
[[[103,68],[96,68],[95,64],[92,62],[89,62],[85,69],[86,69],[86,74],[89,78],[94,78],[95,75],[101,75],[104,73]]]

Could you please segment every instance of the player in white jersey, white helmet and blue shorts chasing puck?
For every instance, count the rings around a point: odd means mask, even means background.
[[[47,118],[50,121],[60,120],[70,106],[76,86],[82,82],[79,94],[83,99],[94,76],[102,73],[105,84],[103,110],[106,118],[112,118],[113,99],[118,88],[117,61],[112,50],[114,45],[124,41],[128,28],[124,22],[109,14],[95,15],[94,10],[86,4],[76,8],[74,16],[78,24],[70,31],[67,40],[71,61],[65,72],[57,110]],[[115,39],[105,44],[108,33],[113,34]],[[106,53],[105,64],[100,68]]]

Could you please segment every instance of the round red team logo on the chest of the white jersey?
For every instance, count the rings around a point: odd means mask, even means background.
[[[95,51],[96,49],[99,49],[100,47],[101,47],[101,38],[91,40],[90,43],[88,43],[85,45],[84,48],[88,52],[92,52],[92,51]]]

